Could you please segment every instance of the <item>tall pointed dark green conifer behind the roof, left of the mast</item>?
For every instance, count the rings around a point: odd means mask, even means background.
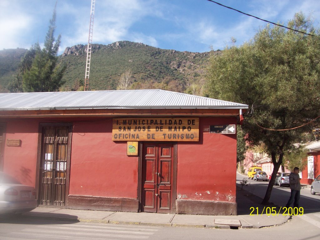
[[[30,68],[22,73],[22,87],[24,92],[52,92],[58,91],[64,84],[62,76],[66,66],[58,63],[58,50],[61,35],[57,40],[54,38],[56,20],[56,7],[54,8],[49,29],[44,41],[44,48],[36,49],[35,57]],[[39,46],[39,44],[37,44]]]

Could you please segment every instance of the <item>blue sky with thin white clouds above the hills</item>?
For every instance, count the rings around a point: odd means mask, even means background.
[[[294,13],[310,15],[319,27],[319,0],[216,0],[242,12],[286,25]],[[44,38],[56,0],[1,0],[0,49],[27,48]],[[162,49],[208,52],[249,41],[266,22],[207,0],[96,0],[93,44],[128,40]],[[59,53],[87,44],[91,0],[58,0],[55,37]]]

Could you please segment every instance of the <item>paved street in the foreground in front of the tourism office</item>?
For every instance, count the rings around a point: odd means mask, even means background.
[[[291,240],[318,240],[320,230],[313,228],[300,218],[272,228],[214,229],[214,228],[173,228],[136,225],[112,225],[105,223],[63,222],[21,216],[16,219],[0,218],[1,240],[248,240],[248,236],[259,239],[277,239],[285,236]],[[250,238],[250,237],[249,237]]]

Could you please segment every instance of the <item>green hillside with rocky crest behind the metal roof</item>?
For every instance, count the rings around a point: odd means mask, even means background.
[[[0,51],[0,85],[6,88],[13,79],[25,49]],[[67,65],[63,91],[73,91],[83,82],[86,70],[86,45],[67,47],[60,56]],[[142,43],[119,41],[108,45],[93,44],[90,62],[89,90],[113,90],[120,76],[130,70],[134,89],[161,88],[184,92],[188,85],[201,84],[211,54],[219,52],[179,52]],[[9,54],[11,53],[11,54]],[[9,67],[10,66],[10,67]]]

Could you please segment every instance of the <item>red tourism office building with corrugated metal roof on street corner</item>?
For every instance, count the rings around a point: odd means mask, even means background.
[[[244,104],[163,90],[0,94],[0,171],[39,205],[236,214]]]

